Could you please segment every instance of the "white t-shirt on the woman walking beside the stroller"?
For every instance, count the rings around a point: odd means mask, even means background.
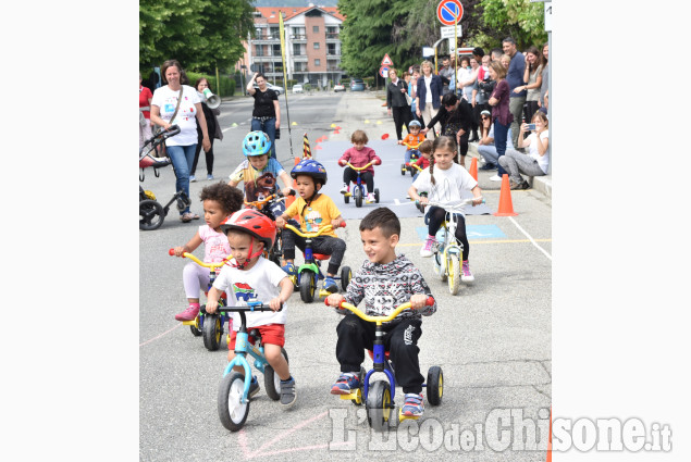
[[[188,85],[183,85],[183,100],[180,103],[175,120],[171,121],[180,90],[173,91],[164,85],[153,91],[151,105],[158,105],[160,116],[165,122],[177,125],[180,134],[165,140],[168,146],[192,146],[197,143],[197,109],[195,104],[201,102],[197,90]]]

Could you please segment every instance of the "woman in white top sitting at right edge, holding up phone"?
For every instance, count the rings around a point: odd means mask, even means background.
[[[538,111],[532,117],[535,129],[523,139],[528,130],[528,124],[521,124],[518,148],[528,148],[526,154],[514,149],[507,149],[506,154],[499,158],[499,165],[508,172],[511,189],[528,189],[530,185],[520,174],[528,176],[546,175],[550,171],[550,122],[547,116]]]

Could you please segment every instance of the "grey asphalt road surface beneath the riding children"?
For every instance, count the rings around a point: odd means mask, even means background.
[[[284,111],[283,96],[280,101]],[[303,134],[307,133],[312,152],[330,174],[325,191],[346,217],[346,228],[337,234],[348,249],[343,264],[354,271],[365,260],[359,218],[377,204],[356,210],[353,202],[343,203],[332,189],[342,183],[342,170],[333,163],[358,128],[365,129],[371,145],[382,152],[384,165],[375,174],[380,205],[391,207],[400,217],[397,251],[422,271],[440,305],[434,315],[423,320],[419,347],[423,374],[432,365],[444,371],[442,404],[427,404],[424,416],[412,426],[399,424],[383,435],[370,432],[363,408],[329,394],[338,376],[335,326],[340,316],[323,301],[304,303],[294,294],[287,308],[285,348],[297,380],[297,403],[291,410],[281,409],[267,397],[260,377],[262,390],[250,403],[245,427],[227,432],[217,414],[217,392],[226,364],[225,339],[219,351],[207,351],[201,338],[173,319],[185,308],[182,269],[186,261],[169,257],[168,249],[186,242],[203,223],[181,223],[173,207],[161,228],[140,232],[140,460],[546,459],[541,446],[521,450],[518,438],[497,442],[494,417],[511,409],[536,424],[548,422],[544,412],[552,401],[551,198],[538,188],[511,191],[517,216],[469,215],[469,260],[476,283],[461,285],[460,294],[452,296],[446,283],[432,271],[431,260],[419,255],[420,233],[425,227],[422,215],[405,200],[403,188],[410,178],[400,175],[403,149],[395,145],[394,123],[382,102],[381,96],[369,91],[289,95],[289,118],[295,123],[289,130],[292,143],[283,112],[276,152],[289,170],[291,152],[301,154]],[[243,159],[240,141],[249,130],[251,104],[251,98],[238,97],[221,105],[224,139],[214,145],[215,180],[225,180]],[[338,134],[332,124],[341,127]],[[385,134],[388,138],[382,139]],[[467,162],[469,166],[470,158]],[[206,178],[203,157],[197,168],[197,177]],[[497,210],[499,198],[499,184],[489,180],[492,174],[479,172],[489,212]],[[205,179],[190,186],[193,211],[199,214],[199,191],[209,184]],[[174,192],[172,168],[163,170],[158,178],[147,172],[141,185],[166,201]],[[201,248],[194,253],[203,254]],[[365,366],[371,366],[369,359]],[[396,404],[400,403],[400,392],[398,388]],[[510,420],[502,425],[511,429]],[[462,432],[465,436],[454,436]],[[473,441],[469,444],[471,434]]]

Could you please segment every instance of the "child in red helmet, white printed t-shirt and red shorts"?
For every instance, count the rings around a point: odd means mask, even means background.
[[[214,313],[219,298],[226,291],[229,305],[246,307],[249,301],[269,302],[271,310],[246,313],[247,330],[257,328],[264,346],[267,361],[281,378],[281,404],[289,408],[295,403],[295,379],[288,363],[281,354],[285,345],[286,301],[293,294],[293,283],[279,265],[262,257],[271,249],[276,236],[275,223],[262,213],[244,209],[233,213],[221,223],[227,236],[233,259],[226,263],[213,283],[207,297],[207,312]],[[283,304],[283,310],[281,309]],[[229,342],[227,360],[235,358],[235,338],[240,326],[238,313],[233,313],[233,334]],[[243,372],[243,367],[233,367]],[[249,396],[259,391],[259,382],[252,376]]]

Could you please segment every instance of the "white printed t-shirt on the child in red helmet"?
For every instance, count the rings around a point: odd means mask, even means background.
[[[231,261],[235,263],[235,260]],[[248,271],[238,270],[231,265],[224,265],[221,274],[213,282],[213,287],[227,294],[229,307],[247,307],[248,301],[261,301],[268,304],[272,299],[281,295],[279,284],[287,277],[287,274],[279,265],[260,257],[257,263]],[[285,324],[288,304],[283,303],[283,310],[247,312],[247,327],[263,326],[267,324]],[[233,329],[239,330],[239,313],[233,315]]]

